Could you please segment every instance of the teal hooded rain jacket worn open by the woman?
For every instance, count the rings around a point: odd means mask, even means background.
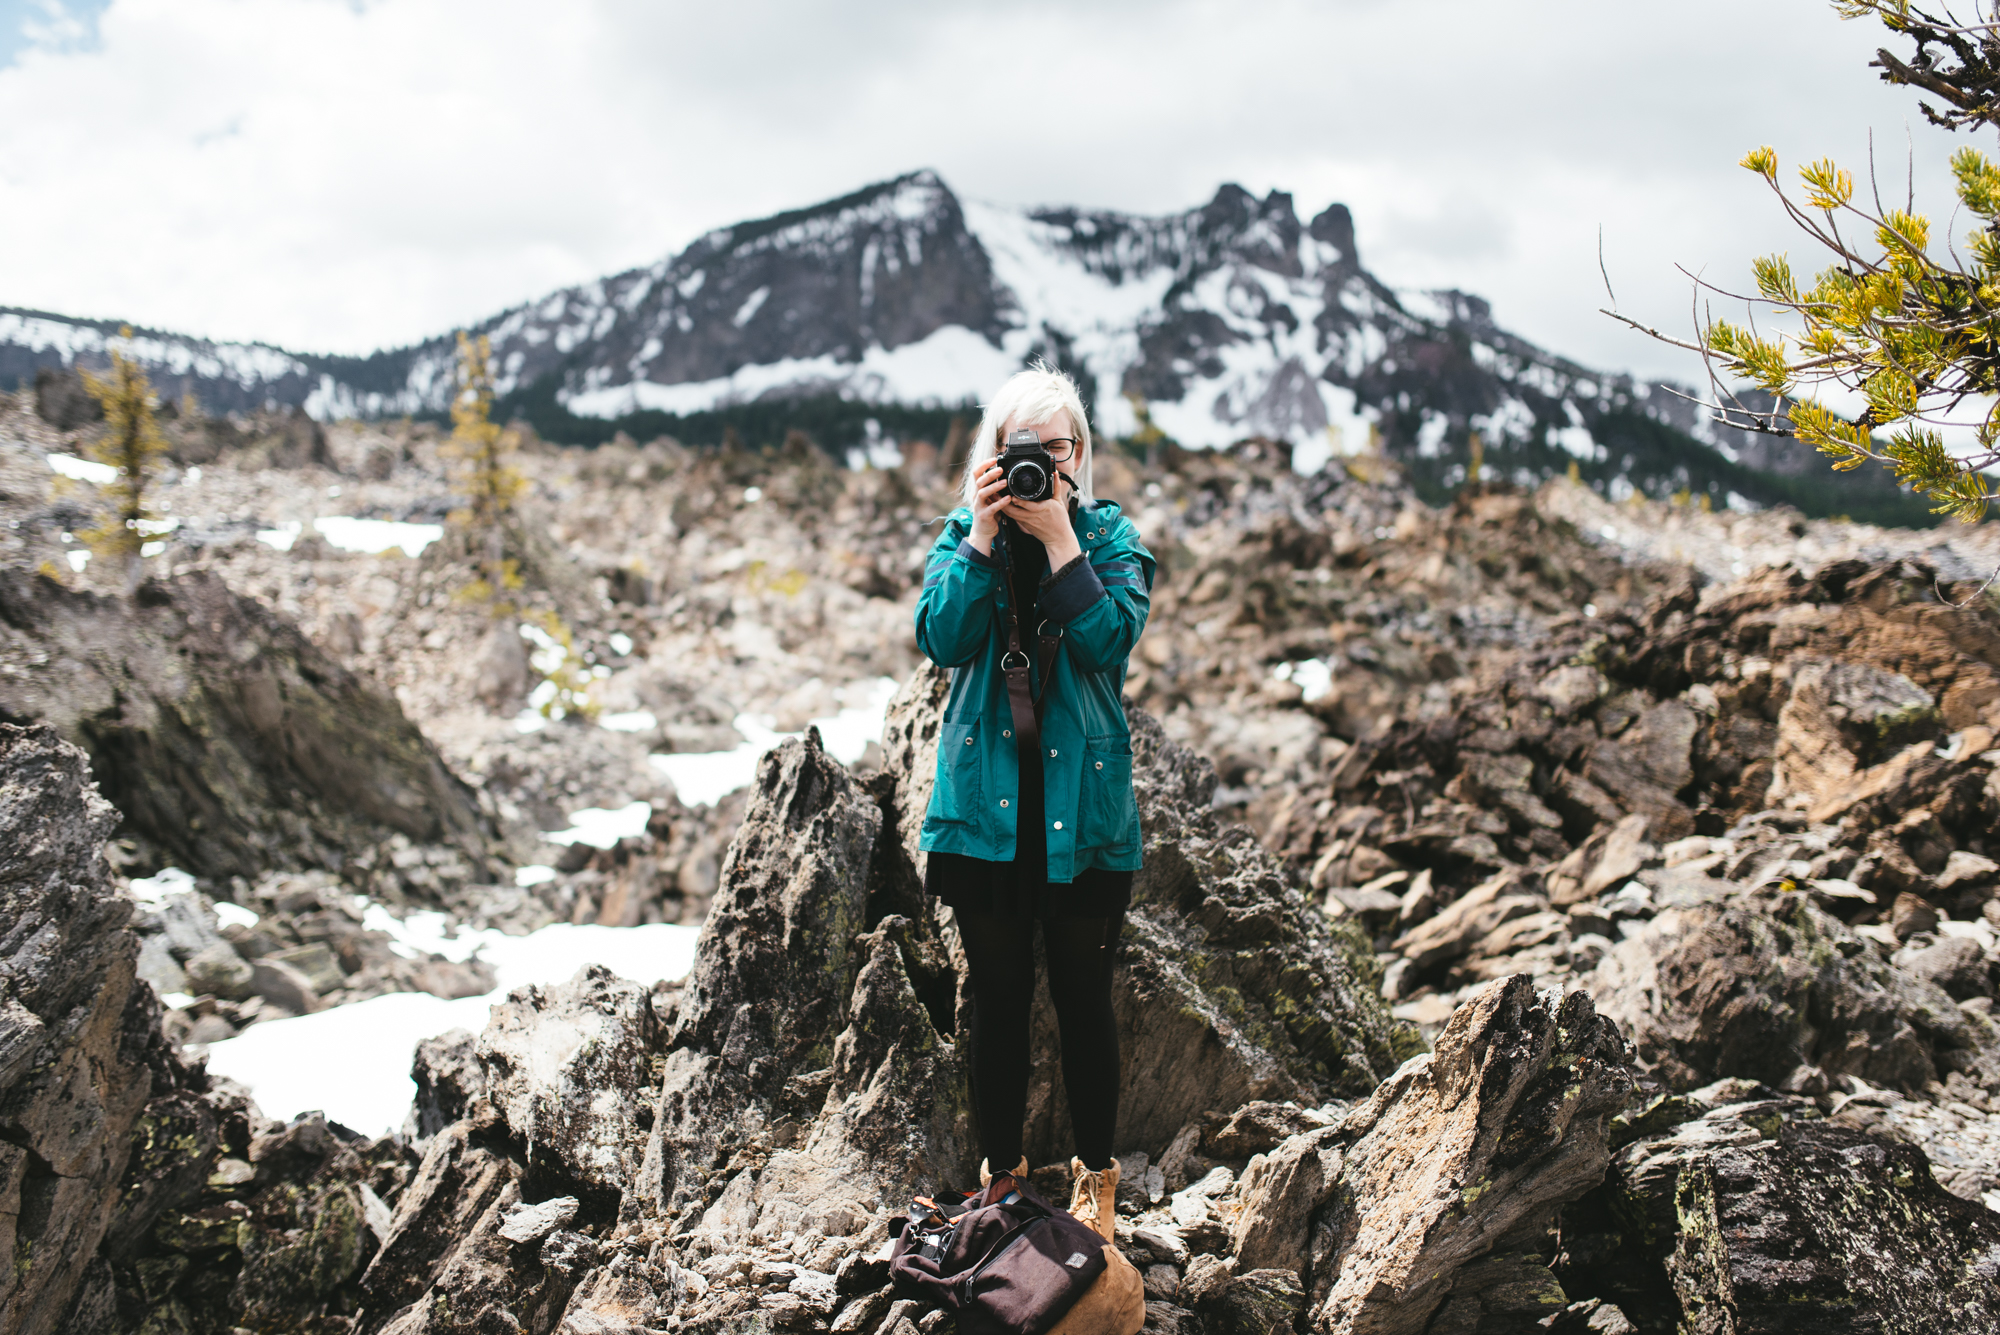
[[[1034,600],[1038,622],[1062,626],[1052,681],[1038,679],[1042,707],[1042,819],[1048,879],[1140,865],[1138,803],[1132,799],[1132,729],[1124,717],[1124,673],[1152,606],[1152,554],[1116,502],[1078,506],[1070,526],[1084,560],[1072,562]],[[952,669],[938,733],[938,781],[924,811],[924,851],[1014,859],[1020,761],[1000,656],[1006,652],[1006,532],[992,556],[966,538],[972,512],[946,516],[924,562],[916,644]],[[1034,626],[1022,648],[1034,658]]]

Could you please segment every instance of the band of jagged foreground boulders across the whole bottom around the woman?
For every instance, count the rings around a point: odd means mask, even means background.
[[[766,755],[686,981],[590,967],[516,991],[482,1033],[420,1049],[410,1125],[382,1139],[268,1121],[176,1055],[134,981],[84,755],[0,725],[0,839],[22,849],[0,879],[0,1331],[950,1329],[884,1263],[906,1197],[976,1165],[970,999],[912,837],[940,701],[932,673],[904,687],[866,779],[810,731]],[[1938,1185],[1886,1117],[1890,1083],[1718,1075],[1730,1057],[1674,1005],[1634,1023],[1624,991],[1526,971],[1470,987],[1426,1045],[1360,923],[1216,819],[1206,759],[1134,713],[1134,769],[1120,1245],[1148,1329],[1916,1331],[2000,1311],[2000,1215]],[[1732,939],[1732,911],[1672,939]],[[1802,897],[1756,927],[1770,939],[1740,953],[1772,997],[1788,953],[1820,977],[1840,961],[1878,1027],[1984,1073],[1978,1035],[1938,1037],[1946,1005],[1966,1015],[1942,985],[1880,995],[1900,965],[1844,949],[1866,937],[1838,915]],[[1058,1089],[1030,1121],[1060,1189]]]

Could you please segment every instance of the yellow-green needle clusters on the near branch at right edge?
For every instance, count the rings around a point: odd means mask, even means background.
[[[1976,220],[1966,258],[1956,258],[1934,254],[1926,216],[1858,206],[1852,174],[1830,160],[1800,168],[1804,204],[1784,194],[1770,148],[1752,150],[1742,166],[1770,184],[1832,264],[1802,286],[1788,256],[1756,260],[1758,300],[1794,328],[1764,334],[1710,320],[1700,332],[1704,352],[1736,378],[1792,400],[1792,434],[1836,470],[1872,460],[1938,502],[1936,514],[1966,524],[1984,518],[2000,496],[1984,476],[2000,464],[2000,168],[1974,148],[1952,156],[1958,202]],[[1818,402],[1828,386],[1866,408],[1852,420],[1836,414]],[[1984,420],[1978,450],[1962,460],[1936,428],[1962,420],[1956,414],[1966,406],[1984,410]]]

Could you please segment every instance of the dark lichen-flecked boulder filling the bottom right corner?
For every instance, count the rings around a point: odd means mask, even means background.
[[[1638,1331],[2000,1323],[2000,1215],[1944,1191],[1906,1141],[1752,1081],[1658,1103],[1620,1133],[1640,1129],[1566,1211],[1556,1265]]]

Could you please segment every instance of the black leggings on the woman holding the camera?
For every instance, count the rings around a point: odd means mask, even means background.
[[[1020,1123],[1028,1113],[1028,1021],[1034,1011],[1034,921],[996,913],[958,913],[958,933],[972,965],[972,1103],[980,1147],[992,1171],[1020,1161]],[[1124,913],[1046,917],[1048,995],[1062,1039],[1062,1089],[1070,1099],[1076,1157],[1110,1167],[1118,1127],[1118,1021],[1112,1015],[1112,963]]]

